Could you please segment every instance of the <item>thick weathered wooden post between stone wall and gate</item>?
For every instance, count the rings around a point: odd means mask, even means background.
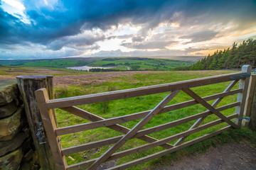
[[[48,95],[53,98],[53,76],[29,75],[18,76],[18,89],[21,91],[33,143],[38,154],[42,170],[56,169],[52,151],[44,132],[41,114],[36,103],[35,91],[41,88],[48,89]]]

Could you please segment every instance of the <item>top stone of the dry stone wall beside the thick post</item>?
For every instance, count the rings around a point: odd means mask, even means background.
[[[0,106],[6,105],[18,98],[19,91],[16,80],[1,80],[0,81]]]

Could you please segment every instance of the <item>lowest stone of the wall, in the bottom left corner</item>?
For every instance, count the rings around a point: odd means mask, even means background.
[[[21,165],[23,153],[21,148],[16,149],[14,152],[0,157],[0,170],[16,170]]]

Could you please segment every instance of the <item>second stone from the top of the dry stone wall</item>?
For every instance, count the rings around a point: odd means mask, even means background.
[[[14,99],[11,103],[0,106],[0,118],[6,118],[12,115],[18,109],[18,99]]]

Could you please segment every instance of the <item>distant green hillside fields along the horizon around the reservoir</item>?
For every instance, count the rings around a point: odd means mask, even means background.
[[[196,60],[194,61],[196,62]],[[75,67],[75,66],[94,66],[94,67],[116,67],[115,70],[125,71],[127,67],[131,70],[153,70],[168,71],[176,67],[188,67],[194,62],[152,59],[142,57],[88,57],[88,58],[66,58],[66,59],[48,59],[48,60],[0,60],[4,66],[16,67]]]

